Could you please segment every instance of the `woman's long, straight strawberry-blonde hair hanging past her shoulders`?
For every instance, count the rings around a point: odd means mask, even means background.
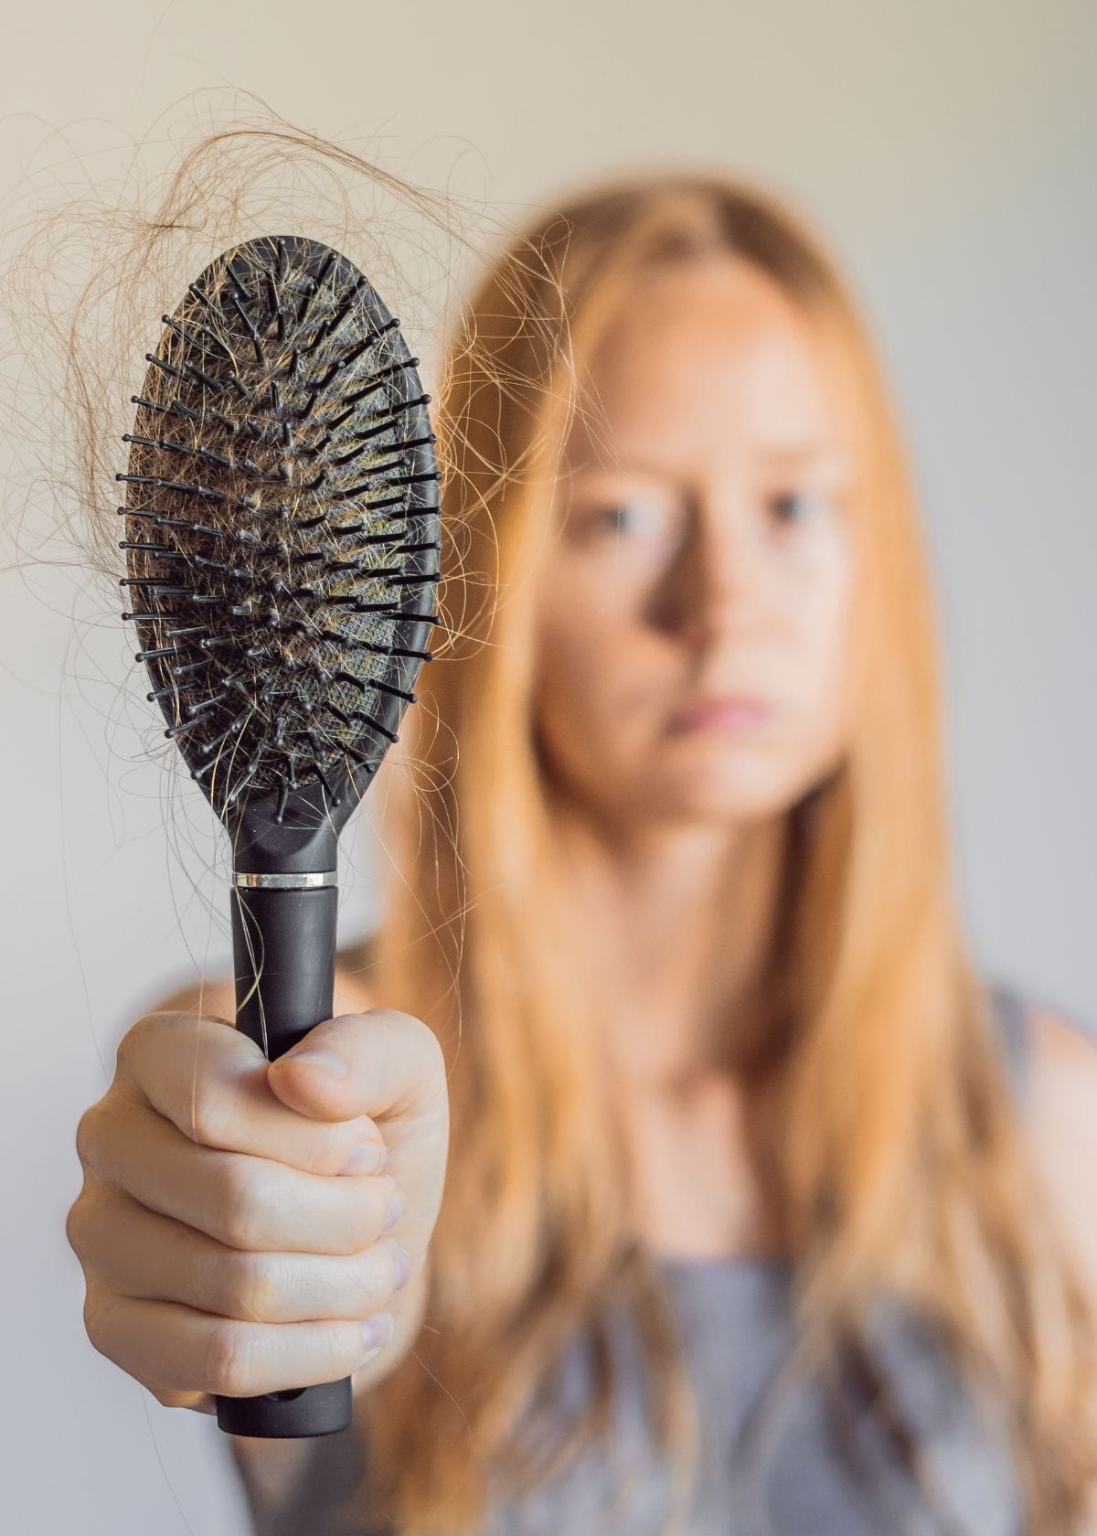
[[[1068,1531],[1092,1471],[1091,1321],[1036,1198],[962,935],[936,625],[893,412],[819,240],[719,175],[622,181],[553,210],[482,278],[449,353],[442,604],[461,639],[424,668],[407,753],[384,770],[393,879],[367,978],[442,1041],[453,1134],[424,1326],[364,1404],[370,1501],[384,1488],[407,1536],[461,1536],[492,1491],[530,1487],[602,1433],[611,1301],[639,1327],[681,1501],[696,1467],[681,1341],[628,1226],[598,989],[568,945],[525,591],[601,324],[641,270],[713,252],[756,263],[813,321],[857,459],[859,711],[840,766],[788,813],[773,1006],[734,1063],[793,1260],[804,1359],[824,1369],[854,1352],[873,1369],[867,1307],[897,1296],[1003,1405],[1031,1528]],[[533,1385],[576,1330],[599,1367],[592,1401],[570,1433],[545,1441],[542,1425],[522,1445]],[[926,1476],[879,1387],[896,1447]]]

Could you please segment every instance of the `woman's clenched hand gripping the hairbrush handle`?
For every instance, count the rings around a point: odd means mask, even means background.
[[[410,1347],[441,1204],[441,1048],[409,1014],[317,1025],[267,1061],[230,1025],[151,1014],[77,1129],[66,1233],[100,1353],[167,1407],[386,1375]],[[410,1284],[409,1284],[410,1279]]]

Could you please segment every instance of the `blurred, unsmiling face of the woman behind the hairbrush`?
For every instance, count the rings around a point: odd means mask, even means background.
[[[785,809],[850,723],[851,464],[808,321],[722,260],[638,283],[590,361],[536,599],[536,728],[599,817]]]

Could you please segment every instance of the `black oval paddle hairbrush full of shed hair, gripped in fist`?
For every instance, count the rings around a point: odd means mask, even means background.
[[[352,263],[218,257],[163,316],[129,447],[143,660],[232,837],[237,1028],[269,1060],[332,1012],[336,842],[424,660],[439,579],[429,395]],[[234,1435],[326,1435],[350,1379],[217,1399]]]

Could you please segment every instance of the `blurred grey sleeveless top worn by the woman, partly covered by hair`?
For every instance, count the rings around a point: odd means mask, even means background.
[[[994,1003],[1020,1091],[1026,1006],[1003,986],[994,989]],[[843,1395],[836,1412],[820,1384],[800,1381],[759,1439],[753,1410],[793,1342],[791,1272],[784,1261],[664,1256],[658,1263],[699,1405],[701,1461],[687,1536],[1020,1536],[1023,1508],[1005,1438],[962,1390],[943,1346],[925,1326],[887,1304],[870,1324],[877,1358],[943,1499],[943,1516],[926,1504],[856,1392],[848,1401]],[[635,1384],[621,1393],[613,1435],[521,1499],[493,1498],[482,1536],[659,1536],[668,1471],[644,1424],[639,1342],[621,1322],[610,1330],[610,1347],[619,1352],[622,1379]],[[553,1382],[548,1412],[572,1416],[588,1390],[590,1369],[576,1339]],[[277,1502],[244,1476],[255,1536],[347,1536],[336,1511],[360,1471],[358,1435],[352,1428],[304,1444],[301,1467]],[[393,1531],[363,1510],[353,1536]]]

